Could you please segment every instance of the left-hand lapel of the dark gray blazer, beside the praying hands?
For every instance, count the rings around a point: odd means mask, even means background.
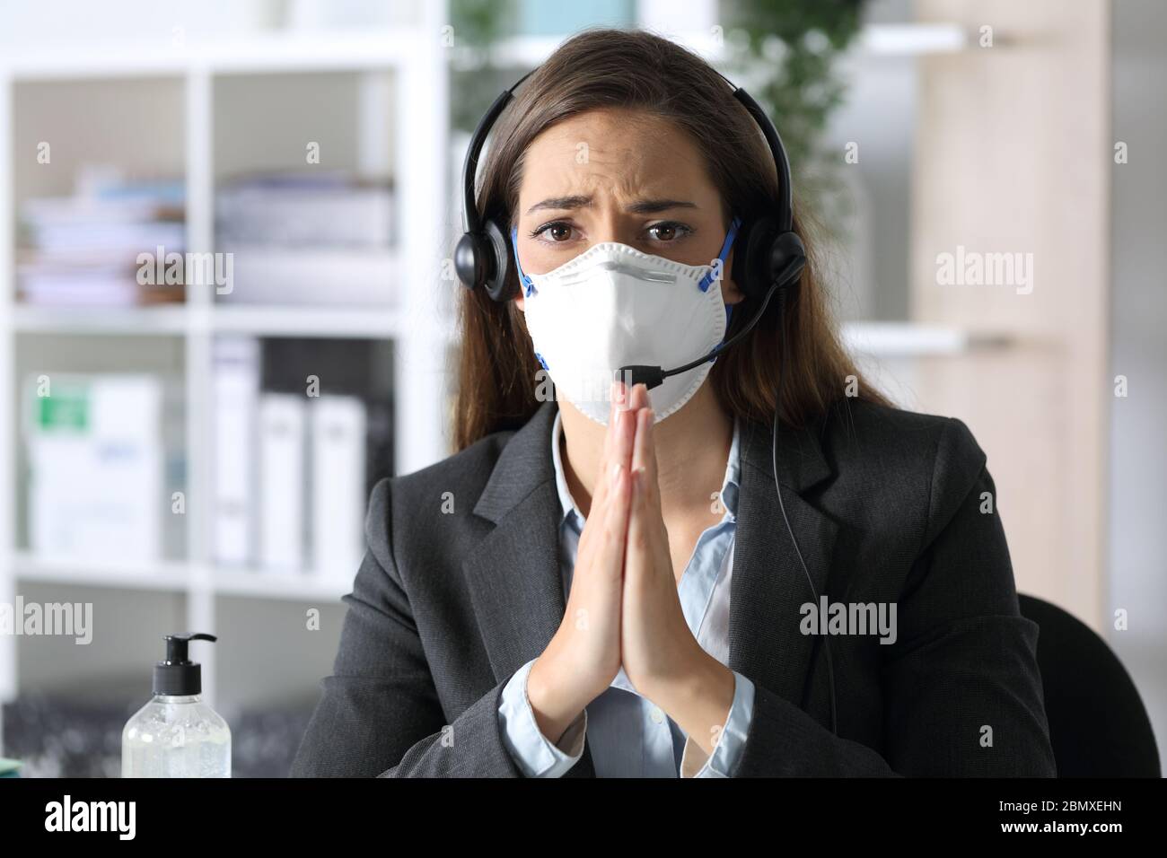
[[[474,514],[495,523],[462,564],[495,682],[537,657],[567,609],[559,567],[559,495],[551,461],[554,402],[544,403],[495,462]],[[587,739],[569,777],[594,777]]]

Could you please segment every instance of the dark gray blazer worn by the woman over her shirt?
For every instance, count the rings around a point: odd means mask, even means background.
[[[293,776],[522,776],[498,703],[565,612],[557,407],[373,489],[369,550]],[[756,696],[734,775],[1054,776],[1037,627],[1018,612],[969,428],[848,399],[778,440],[816,590],[896,602],[897,640],[831,636],[836,737],[822,637],[799,630],[812,598],[778,509],[770,427],[743,423],[728,661]],[[586,742],[567,776],[595,776]]]

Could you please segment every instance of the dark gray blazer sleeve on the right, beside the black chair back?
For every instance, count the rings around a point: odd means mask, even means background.
[[[883,755],[759,685],[735,776],[1056,776],[1036,642],[1036,623],[1018,607],[985,454],[949,418],[896,642],[883,656]]]

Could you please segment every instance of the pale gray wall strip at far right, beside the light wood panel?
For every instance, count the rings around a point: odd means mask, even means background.
[[[1112,167],[1110,438],[1111,618],[1109,639],[1142,693],[1159,738],[1167,737],[1167,4],[1114,2],[1113,137],[1130,160]]]

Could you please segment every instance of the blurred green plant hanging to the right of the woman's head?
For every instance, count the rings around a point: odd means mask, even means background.
[[[838,60],[862,26],[866,0],[722,0],[727,64],[769,113],[790,158],[799,200],[839,233],[841,153],[823,147],[823,132],[846,93]],[[735,78],[736,79],[736,78]]]

